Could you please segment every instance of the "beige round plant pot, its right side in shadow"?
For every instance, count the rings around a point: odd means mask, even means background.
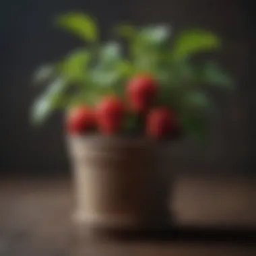
[[[169,182],[157,168],[156,143],[143,138],[71,136],[68,148],[79,224],[119,229],[163,220]]]

